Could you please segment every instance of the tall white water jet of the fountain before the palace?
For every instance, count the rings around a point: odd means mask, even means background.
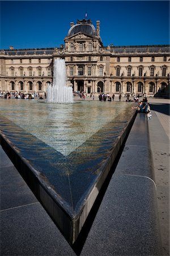
[[[73,103],[73,89],[66,86],[66,66],[64,59],[54,60],[53,84],[46,90],[47,102]]]

